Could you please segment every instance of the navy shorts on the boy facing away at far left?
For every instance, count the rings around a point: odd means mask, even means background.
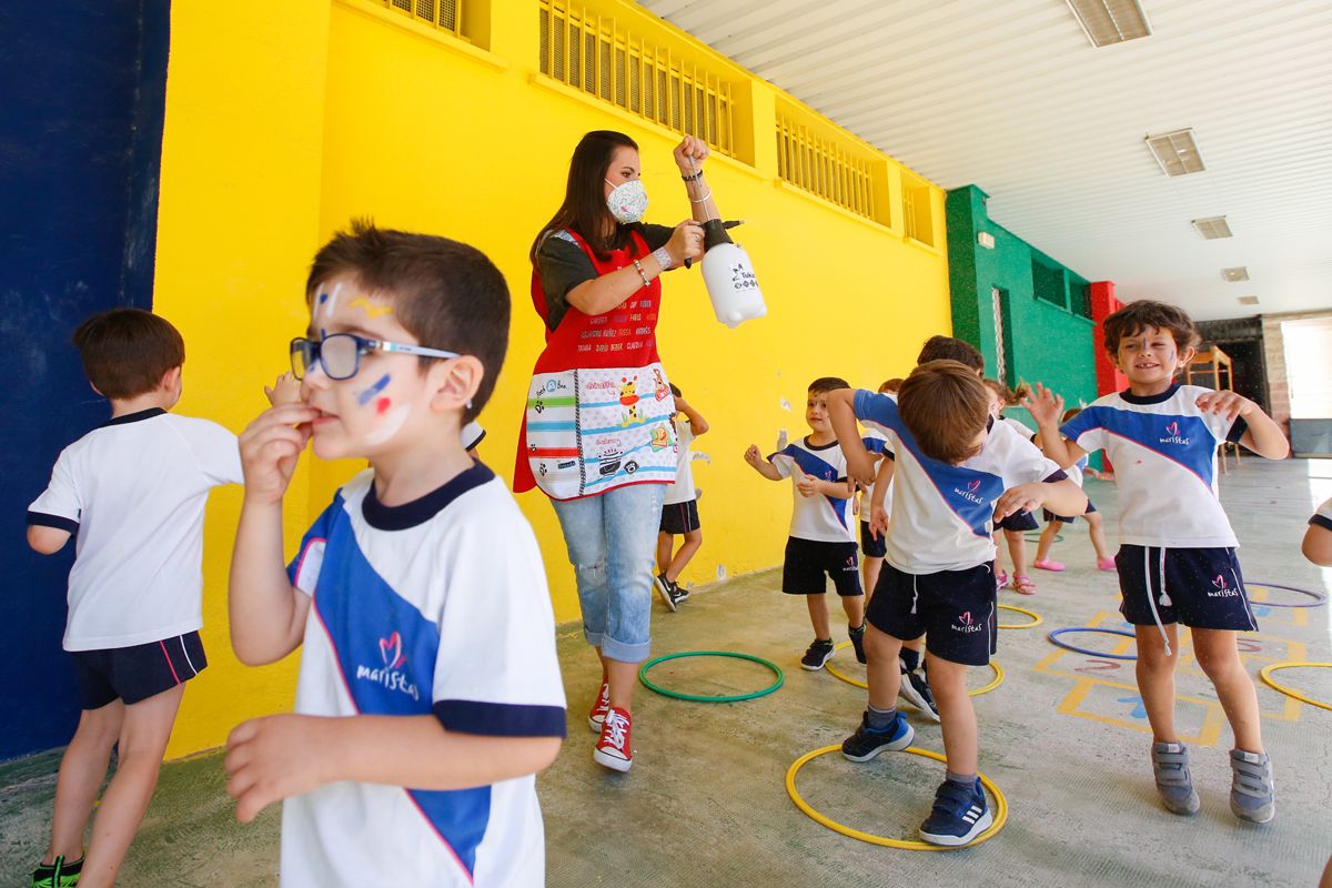
[[[79,708],[100,710],[124,700],[141,703],[194,678],[208,667],[198,632],[133,647],[69,651],[79,684]]]

